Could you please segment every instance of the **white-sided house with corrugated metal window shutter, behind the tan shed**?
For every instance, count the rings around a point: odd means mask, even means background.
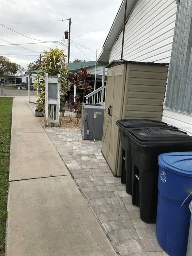
[[[172,59],[162,121],[192,135],[190,84],[192,2],[127,1],[124,27],[125,5],[126,1],[123,0],[98,61],[120,60],[122,53],[122,59],[128,61],[170,63]],[[122,51],[123,27],[125,30]],[[176,77],[177,74],[179,77]]]

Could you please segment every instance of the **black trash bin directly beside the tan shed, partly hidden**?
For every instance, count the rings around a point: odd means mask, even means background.
[[[130,139],[126,136],[125,130],[128,128],[136,127],[168,127],[164,122],[149,120],[149,119],[121,119],[116,121],[119,127],[120,140],[121,140],[121,183],[126,184],[126,192],[132,194],[132,156]],[[169,126],[170,127],[170,126]],[[173,127],[178,130],[178,128]]]

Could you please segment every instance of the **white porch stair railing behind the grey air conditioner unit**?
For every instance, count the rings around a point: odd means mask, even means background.
[[[88,104],[104,104],[106,86],[101,86],[90,94],[86,95],[86,103]]]

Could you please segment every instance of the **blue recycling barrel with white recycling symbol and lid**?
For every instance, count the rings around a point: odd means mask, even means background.
[[[192,197],[184,200],[192,191],[192,152],[160,154],[158,164],[156,237],[170,256],[186,256]]]

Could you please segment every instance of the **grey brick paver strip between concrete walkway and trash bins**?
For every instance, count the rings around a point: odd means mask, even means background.
[[[156,225],[140,220],[125,185],[112,175],[101,153],[102,141],[82,140],[79,129],[45,131],[120,255],[168,255],[156,240]]]

